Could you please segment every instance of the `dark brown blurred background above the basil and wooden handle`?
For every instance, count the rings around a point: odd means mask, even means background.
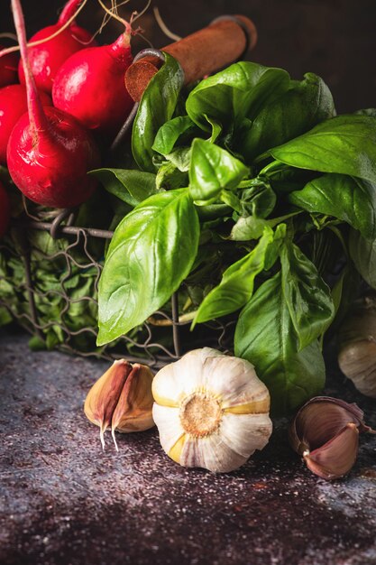
[[[110,0],[105,0],[111,5]],[[29,36],[54,23],[64,0],[23,0]],[[1,30],[13,31],[9,0],[3,0]],[[130,0],[119,9],[125,18],[142,10],[146,0]],[[247,59],[289,70],[301,79],[307,71],[326,80],[337,111],[352,112],[376,107],[376,2],[375,0],[153,0],[138,23],[155,47],[170,42],[155,22],[152,6],[158,5],[164,22],[180,36],[195,32],[221,14],[245,14],[259,32],[259,42]],[[103,11],[96,0],[88,0],[79,23],[96,32]],[[97,37],[112,42],[121,31],[108,23]],[[134,51],[147,47],[136,39]]]

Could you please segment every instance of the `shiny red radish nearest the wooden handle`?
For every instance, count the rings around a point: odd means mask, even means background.
[[[78,51],[60,67],[52,100],[89,129],[114,136],[133,107],[124,83],[131,64],[131,26],[112,44]]]

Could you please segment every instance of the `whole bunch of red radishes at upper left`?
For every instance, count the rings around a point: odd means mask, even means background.
[[[89,198],[96,182],[87,171],[100,164],[89,130],[110,141],[133,106],[124,84],[132,62],[130,25],[124,22],[112,45],[97,46],[74,21],[81,3],[69,0],[58,23],[31,42],[53,38],[28,47],[20,0],[12,0],[19,84],[14,53],[0,52],[0,165],[28,199],[50,208],[72,208]],[[0,185],[0,236],[8,216]]]

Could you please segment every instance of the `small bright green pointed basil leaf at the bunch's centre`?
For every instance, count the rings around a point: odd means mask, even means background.
[[[243,162],[222,147],[198,137],[194,140],[189,168],[193,199],[212,199],[223,189],[235,189],[248,172]]]

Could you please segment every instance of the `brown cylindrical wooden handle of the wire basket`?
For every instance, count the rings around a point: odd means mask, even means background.
[[[185,84],[224,68],[238,60],[247,47],[257,42],[257,30],[244,15],[218,18],[203,30],[192,33],[179,42],[170,43],[161,51],[170,53],[184,71]],[[125,86],[134,101],[139,101],[150,79],[160,68],[157,57],[144,57],[134,62],[125,73]]]

